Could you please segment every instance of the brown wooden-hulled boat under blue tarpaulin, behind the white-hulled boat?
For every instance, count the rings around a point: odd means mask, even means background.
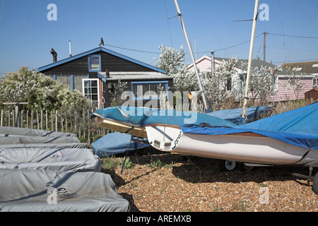
[[[235,126],[230,121],[197,112],[181,112],[148,107],[116,106],[98,109],[91,115],[98,126],[106,129],[131,133],[134,136],[147,138],[145,126],[149,124],[200,124],[208,122],[214,126]]]

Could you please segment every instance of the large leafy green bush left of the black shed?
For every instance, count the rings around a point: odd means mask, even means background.
[[[88,107],[78,90],[70,90],[59,81],[22,66],[7,73],[0,81],[0,105],[4,102],[30,102],[30,109],[66,109]]]

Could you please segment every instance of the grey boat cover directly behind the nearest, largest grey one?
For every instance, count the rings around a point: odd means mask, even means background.
[[[87,148],[0,148],[0,169],[100,172],[100,158]]]

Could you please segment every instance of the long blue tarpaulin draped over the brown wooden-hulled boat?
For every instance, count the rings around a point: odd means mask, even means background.
[[[93,115],[120,121],[131,126],[146,126],[147,124],[170,124],[182,126],[184,124],[209,123],[213,126],[235,126],[230,121],[197,112],[180,112],[148,107],[107,107],[96,110]]]

